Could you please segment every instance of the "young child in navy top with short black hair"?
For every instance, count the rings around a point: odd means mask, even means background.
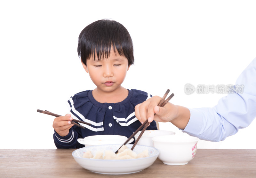
[[[57,148],[81,148],[77,138],[92,135],[130,137],[141,123],[134,107],[151,95],[121,86],[134,62],[133,45],[127,29],[114,20],[98,20],[86,26],[78,38],[78,56],[85,71],[97,86],[75,94],[68,100],[70,114],[53,121]],[[89,122],[86,129],[71,124],[72,119]],[[147,130],[157,130],[151,122]]]

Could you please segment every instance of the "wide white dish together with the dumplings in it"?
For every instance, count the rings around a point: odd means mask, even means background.
[[[131,144],[126,144],[126,149],[120,154],[113,155],[120,146],[120,144],[87,146],[75,150],[72,156],[80,166],[95,173],[131,174],[151,166],[159,155],[156,148],[144,145],[136,145],[131,151]]]

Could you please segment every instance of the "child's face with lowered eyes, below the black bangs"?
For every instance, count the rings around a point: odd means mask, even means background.
[[[95,60],[91,57],[83,67],[89,73],[92,82],[97,86],[99,92],[113,92],[118,89],[124,81],[126,72],[129,70],[128,60],[114,52],[111,48],[109,57]]]

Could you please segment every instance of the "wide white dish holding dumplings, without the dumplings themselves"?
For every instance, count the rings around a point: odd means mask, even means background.
[[[144,150],[148,149],[149,157],[146,158],[138,158],[138,159],[88,159],[83,158],[84,152],[90,150],[93,155],[96,154],[97,151],[105,151],[110,150],[116,152],[116,150],[120,147],[120,144],[115,145],[95,145],[95,146],[87,146],[84,148],[79,148],[72,152],[72,156],[76,160],[76,162],[84,167],[87,170],[90,170],[95,173],[100,174],[130,174],[142,171],[143,169],[151,166],[156,160],[159,151],[154,147],[136,145],[133,149],[134,152],[141,153]],[[132,148],[132,144],[126,145],[128,148]]]

